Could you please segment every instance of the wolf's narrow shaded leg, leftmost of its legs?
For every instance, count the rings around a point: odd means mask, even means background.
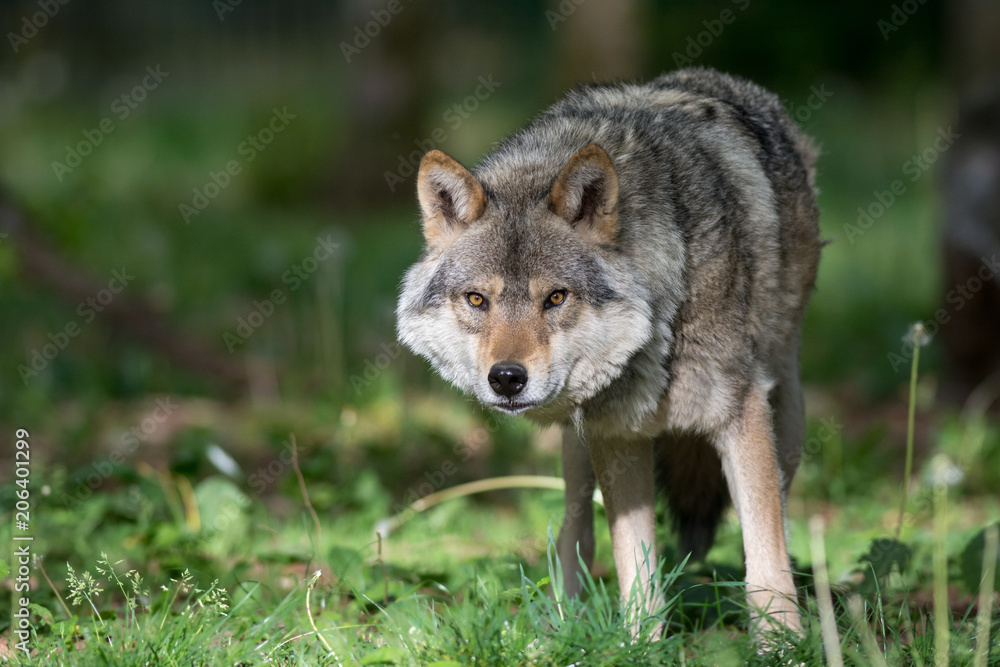
[[[562,566],[563,587],[567,595],[574,597],[581,589],[580,558],[588,570],[594,562],[594,466],[590,452],[572,427],[563,429],[562,456],[566,515],[556,551]]]

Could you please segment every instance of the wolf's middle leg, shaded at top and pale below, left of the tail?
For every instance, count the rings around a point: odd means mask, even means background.
[[[594,439],[589,445],[594,472],[604,495],[622,599],[629,600],[636,590],[643,601],[643,611],[653,614],[661,603],[660,587],[652,577],[657,560],[653,443]],[[637,629],[636,621],[630,619],[633,631]]]

